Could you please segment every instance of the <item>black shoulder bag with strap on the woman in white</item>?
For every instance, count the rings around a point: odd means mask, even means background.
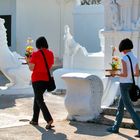
[[[140,89],[139,87],[135,84],[135,79],[134,79],[134,72],[133,72],[133,67],[132,67],[132,61],[129,55],[127,55],[129,61],[130,61],[130,66],[131,66],[131,73],[132,73],[132,79],[133,79],[133,85],[131,89],[129,90],[129,96],[131,101],[136,102],[138,99],[140,99]]]

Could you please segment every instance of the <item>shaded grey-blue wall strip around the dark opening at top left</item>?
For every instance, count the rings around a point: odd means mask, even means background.
[[[11,50],[16,49],[16,0],[0,0],[0,15],[11,15]]]

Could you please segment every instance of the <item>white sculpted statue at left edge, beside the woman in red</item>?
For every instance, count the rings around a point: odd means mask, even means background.
[[[9,79],[7,87],[28,87],[31,72],[27,65],[23,65],[18,53],[11,52],[7,45],[4,19],[0,18],[0,71]]]

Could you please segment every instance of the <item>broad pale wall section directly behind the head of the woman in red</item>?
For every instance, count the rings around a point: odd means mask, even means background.
[[[17,0],[17,51],[24,55],[26,39],[45,36],[55,57],[63,56],[64,25],[73,31],[74,0]]]

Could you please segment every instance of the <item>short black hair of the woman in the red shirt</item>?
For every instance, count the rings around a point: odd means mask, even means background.
[[[41,49],[41,48],[48,49],[49,48],[48,42],[44,36],[41,36],[36,40],[36,48],[38,48],[38,49]]]

